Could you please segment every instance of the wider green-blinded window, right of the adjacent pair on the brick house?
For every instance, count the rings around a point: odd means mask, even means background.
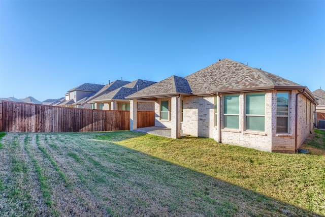
[[[265,130],[265,93],[246,94],[246,130]]]

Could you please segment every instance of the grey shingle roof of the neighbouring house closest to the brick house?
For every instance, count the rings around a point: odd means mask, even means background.
[[[131,94],[134,94],[138,90],[142,90],[150,85],[154,85],[156,82],[138,79],[131,83],[128,83],[120,88],[117,88],[111,92],[108,92],[100,97],[93,99],[93,102],[103,102],[111,100],[126,100],[125,98]]]

